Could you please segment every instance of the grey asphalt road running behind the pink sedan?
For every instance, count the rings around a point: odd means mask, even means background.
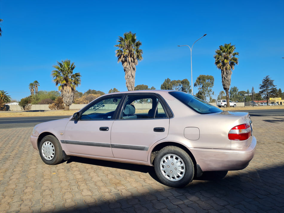
[[[284,109],[271,109],[271,110],[239,110],[242,112],[249,112],[253,116],[277,116],[284,115]],[[41,117],[5,117],[0,118],[0,129],[10,129],[10,128],[30,128],[35,125],[57,120],[68,118],[70,116],[41,116]]]

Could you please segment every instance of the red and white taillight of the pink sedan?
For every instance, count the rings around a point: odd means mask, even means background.
[[[248,140],[251,137],[251,126],[247,123],[233,127],[228,134],[229,140]]]

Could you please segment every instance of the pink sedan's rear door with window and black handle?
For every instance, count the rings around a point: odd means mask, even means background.
[[[115,158],[147,161],[149,148],[168,135],[170,119],[159,97],[129,95],[112,125]]]

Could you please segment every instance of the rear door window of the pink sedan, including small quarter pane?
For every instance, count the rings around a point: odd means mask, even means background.
[[[167,117],[158,98],[153,95],[128,96],[120,119],[153,119]]]

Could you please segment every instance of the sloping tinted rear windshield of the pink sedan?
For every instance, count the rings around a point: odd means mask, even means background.
[[[172,96],[178,99],[180,102],[187,105],[192,110],[196,111],[199,114],[210,114],[210,113],[217,113],[222,112],[221,109],[199,99],[195,96],[192,96],[185,92],[180,91],[172,91],[169,92]]]

